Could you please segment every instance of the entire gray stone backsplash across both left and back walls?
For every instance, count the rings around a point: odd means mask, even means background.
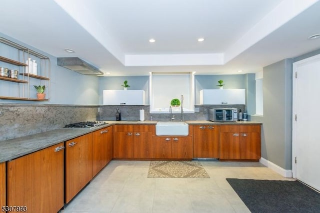
[[[184,120],[208,120],[209,108],[239,108],[245,105],[198,105],[199,112],[185,113]],[[120,109],[123,121],[138,121],[139,110],[144,109],[145,120],[169,120],[169,114],[150,114],[149,106],[78,106],[78,105],[1,105],[0,141],[59,129],[66,124],[81,121],[115,121],[115,110]],[[98,112],[99,111],[99,112]],[[174,114],[175,120],[181,118]]]

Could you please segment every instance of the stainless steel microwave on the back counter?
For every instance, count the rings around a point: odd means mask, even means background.
[[[236,122],[238,110],[236,108],[209,109],[209,120],[213,122]]]

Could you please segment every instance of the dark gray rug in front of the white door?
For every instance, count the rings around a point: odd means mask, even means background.
[[[226,181],[252,213],[320,213],[320,193],[299,181]]]

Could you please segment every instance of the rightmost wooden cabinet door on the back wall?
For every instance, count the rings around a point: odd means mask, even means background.
[[[240,132],[240,158],[259,160],[261,157],[260,132]]]

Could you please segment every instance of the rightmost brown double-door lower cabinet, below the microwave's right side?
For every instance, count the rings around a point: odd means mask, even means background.
[[[221,125],[220,159],[259,160],[260,125]]]

